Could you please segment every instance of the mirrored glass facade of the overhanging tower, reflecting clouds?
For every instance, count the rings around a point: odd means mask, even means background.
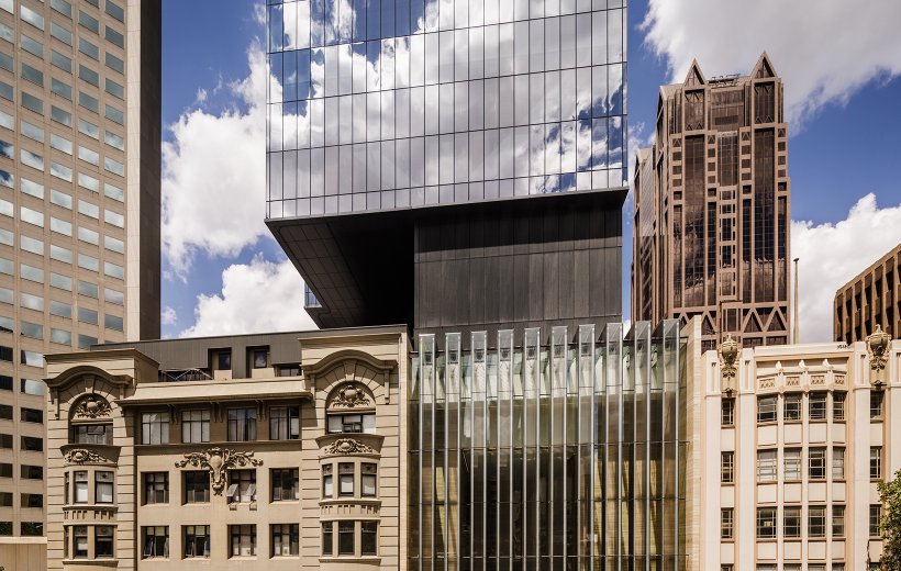
[[[619,0],[267,11],[270,217],[626,184]]]

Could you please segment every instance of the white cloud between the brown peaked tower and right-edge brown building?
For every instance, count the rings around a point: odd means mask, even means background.
[[[832,339],[835,292],[870,264],[901,244],[901,203],[880,209],[870,193],[848,216],[813,225],[792,221],[792,255],[800,258],[798,312],[802,343]]]

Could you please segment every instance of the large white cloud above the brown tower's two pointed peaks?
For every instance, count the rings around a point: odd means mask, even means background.
[[[650,0],[647,44],[681,82],[693,57],[709,78],[749,71],[766,51],[796,125],[865,83],[901,74],[901,2]]]

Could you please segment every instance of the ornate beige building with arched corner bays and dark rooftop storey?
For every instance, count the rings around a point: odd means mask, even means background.
[[[409,349],[372,327],[48,356],[48,568],[402,569]]]

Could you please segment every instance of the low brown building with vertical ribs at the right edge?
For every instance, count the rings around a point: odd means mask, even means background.
[[[901,244],[838,288],[834,303],[834,339],[854,343],[880,327],[901,333]]]

